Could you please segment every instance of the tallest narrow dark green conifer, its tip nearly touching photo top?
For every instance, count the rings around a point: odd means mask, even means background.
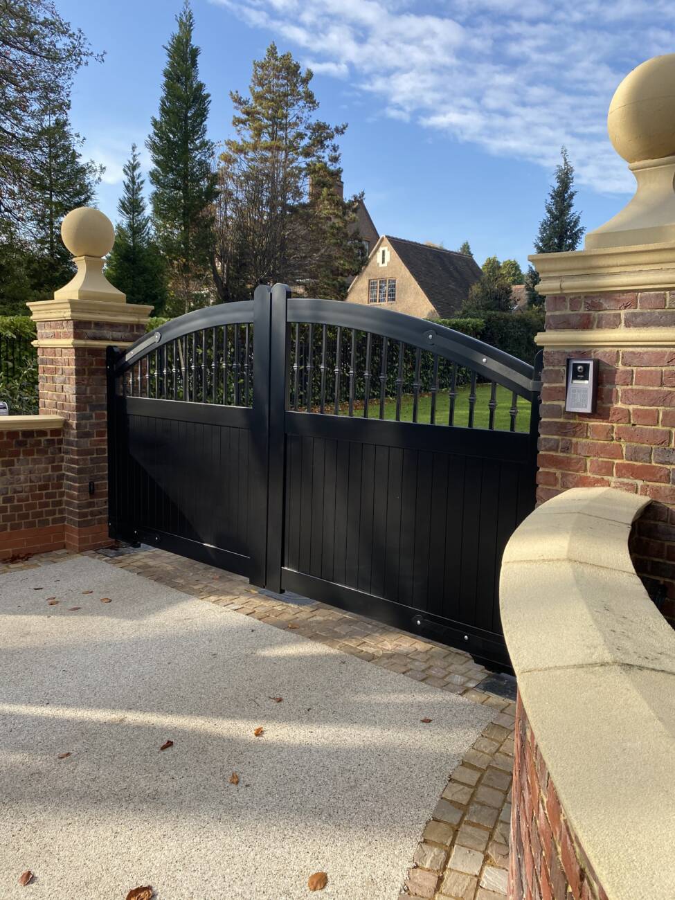
[[[200,49],[193,44],[194,17],[187,0],[166,46],[159,114],[147,147],[157,243],[170,271],[175,310],[211,301],[209,269],[216,176],[213,143],[206,137],[211,96],[199,78]]]

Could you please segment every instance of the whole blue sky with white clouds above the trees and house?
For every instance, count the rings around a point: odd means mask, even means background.
[[[106,166],[98,201],[113,220],[181,2],[57,0],[106,51],[77,76],[72,120]],[[480,263],[526,266],[562,144],[587,229],[625,204],[634,181],[609,144],[608,104],[631,68],[675,49],[664,0],[193,0],[193,12],[213,140],[231,134],[229,90],[246,90],[275,40],[314,70],[321,117],[348,122],[346,191],[365,191],[380,233],[468,239]]]

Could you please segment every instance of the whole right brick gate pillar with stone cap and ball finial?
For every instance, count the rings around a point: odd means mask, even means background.
[[[546,297],[539,502],[607,486],[652,499],[635,524],[638,574],[675,619],[675,138],[658,99],[675,93],[675,54],[617,88],[610,138],[635,174],[635,198],[583,250],[530,257]],[[657,99],[654,99],[657,98]],[[665,103],[665,101],[664,101]],[[665,119],[664,119],[665,117]],[[596,412],[565,411],[566,362],[599,360]]]

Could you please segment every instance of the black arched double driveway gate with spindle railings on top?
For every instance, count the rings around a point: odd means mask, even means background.
[[[277,284],[109,348],[108,369],[112,537],[509,664],[498,578],[535,503],[533,366]]]

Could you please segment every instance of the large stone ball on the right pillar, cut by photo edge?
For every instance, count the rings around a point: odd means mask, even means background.
[[[628,163],[675,156],[675,53],[626,75],[609,104],[608,131]]]

